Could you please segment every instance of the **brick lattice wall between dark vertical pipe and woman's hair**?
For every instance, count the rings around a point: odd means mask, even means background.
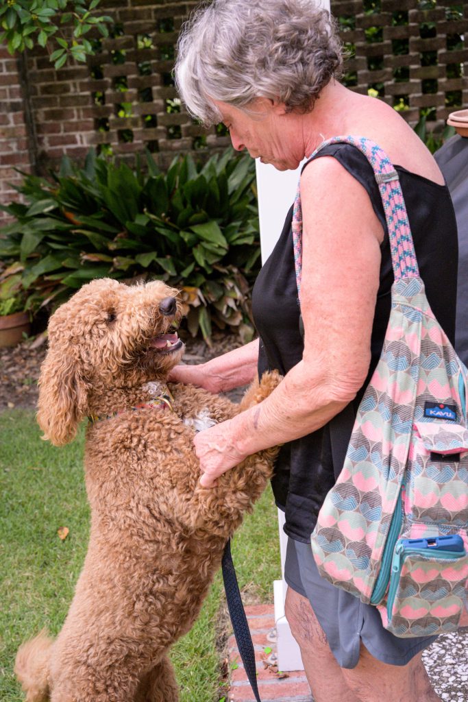
[[[225,129],[207,133],[196,124],[173,83],[178,31],[195,5],[107,0],[100,8],[114,25],[109,38],[92,41],[95,55],[87,66],[55,72],[43,51],[30,55],[39,159],[53,162],[65,151],[80,157],[93,145],[132,160],[147,147],[164,167],[175,152],[224,148]]]

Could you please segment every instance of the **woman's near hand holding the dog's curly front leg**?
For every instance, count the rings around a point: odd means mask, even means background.
[[[194,438],[196,456],[200,461],[202,487],[215,487],[216,479],[235,465],[243,455],[236,447],[229,431],[230,420],[199,432]]]

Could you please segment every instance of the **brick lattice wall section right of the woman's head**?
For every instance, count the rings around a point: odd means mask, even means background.
[[[352,53],[345,84],[376,95],[413,126],[442,128],[468,105],[468,4],[436,0],[332,0]]]

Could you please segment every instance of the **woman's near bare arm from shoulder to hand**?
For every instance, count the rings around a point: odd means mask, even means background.
[[[333,158],[307,166],[301,197],[302,361],[262,403],[196,436],[207,487],[250,453],[319,429],[368,373],[382,226],[366,190]]]

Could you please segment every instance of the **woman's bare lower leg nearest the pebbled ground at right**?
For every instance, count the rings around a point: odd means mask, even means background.
[[[350,689],[361,702],[440,702],[417,654],[406,665],[389,665],[377,661],[361,644],[359,663],[352,670],[342,670]]]

